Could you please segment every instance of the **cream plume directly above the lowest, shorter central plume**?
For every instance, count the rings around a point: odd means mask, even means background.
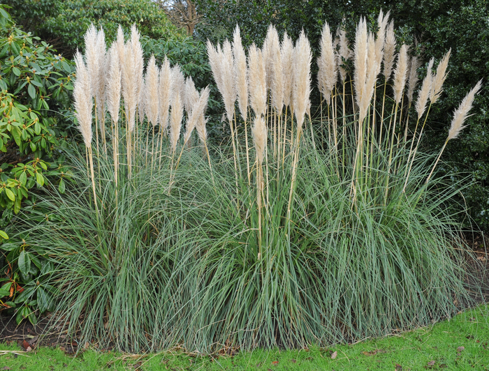
[[[263,54],[256,45],[248,51],[249,104],[255,116],[265,114],[267,109],[267,88]]]

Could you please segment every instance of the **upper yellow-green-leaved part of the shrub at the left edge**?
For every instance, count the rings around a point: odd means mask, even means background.
[[[29,190],[42,187],[54,151],[66,139],[70,116],[73,63],[50,45],[14,26],[0,8],[0,209],[17,213]]]

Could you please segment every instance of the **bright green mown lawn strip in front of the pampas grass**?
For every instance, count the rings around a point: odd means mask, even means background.
[[[177,351],[139,356],[94,350],[73,357],[61,349],[25,353],[17,345],[0,345],[0,370],[489,370],[488,319],[489,305],[482,305],[428,328],[356,345],[255,350],[233,357]]]

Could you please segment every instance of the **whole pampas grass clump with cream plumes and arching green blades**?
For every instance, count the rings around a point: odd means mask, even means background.
[[[421,61],[407,45],[395,52],[388,15],[377,33],[360,20],[353,51],[344,30],[334,39],[325,25],[326,104],[312,117],[305,33],[294,45],[270,27],[247,56],[239,28],[233,43],[207,46],[229,147],[207,143],[208,89],[167,59],[150,59],[143,74],[136,29],[110,46],[103,103],[84,88],[77,54],[88,159],[73,151],[73,188],[42,201],[58,218],[33,220],[27,241],[57,264],[70,335],[125,351],[326,347],[425,326],[471,303],[465,245],[446,208],[453,190],[432,177],[444,148],[437,158],[419,149],[449,52],[435,73],[430,60],[416,96]],[[354,71],[343,63],[351,58]],[[455,111],[446,142],[479,89]],[[92,102],[110,113],[96,116],[110,128],[98,130],[103,149],[92,149]]]

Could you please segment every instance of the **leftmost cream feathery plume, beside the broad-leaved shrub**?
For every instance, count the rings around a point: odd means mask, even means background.
[[[92,96],[90,94],[90,77],[87,66],[80,52],[75,54],[76,79],[73,86],[73,98],[75,98],[76,119],[80,125],[78,129],[82,133],[85,146],[92,146]]]

